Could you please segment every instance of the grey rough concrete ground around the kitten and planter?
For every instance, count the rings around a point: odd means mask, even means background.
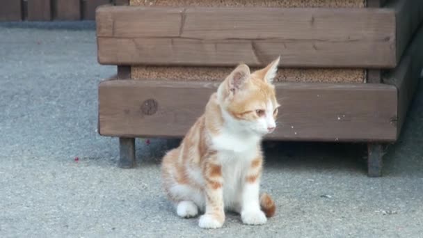
[[[0,237],[423,236],[423,84],[383,177],[367,177],[360,144],[266,143],[276,216],[202,230],[161,190],[169,143],[138,140],[125,170],[118,139],[97,134],[97,84],[113,73],[92,22],[0,24]]]

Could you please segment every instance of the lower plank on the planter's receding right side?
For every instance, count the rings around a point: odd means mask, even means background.
[[[423,68],[423,26],[417,31],[413,42],[409,45],[406,53],[401,58],[401,62],[394,70],[388,71],[384,77],[385,84],[391,84],[398,88],[398,121],[397,136],[401,133],[401,128],[406,120],[406,114],[415,88],[421,77]]]

